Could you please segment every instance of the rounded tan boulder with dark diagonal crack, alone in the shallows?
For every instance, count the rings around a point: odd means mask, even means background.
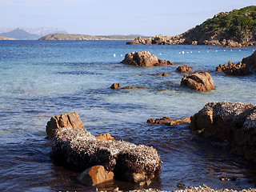
[[[182,78],[182,86],[188,86],[192,90],[214,90],[214,81],[208,72],[186,74]]]

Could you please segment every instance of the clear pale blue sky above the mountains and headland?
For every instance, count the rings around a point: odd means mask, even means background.
[[[59,27],[70,34],[182,34],[256,0],[0,0],[0,27]]]

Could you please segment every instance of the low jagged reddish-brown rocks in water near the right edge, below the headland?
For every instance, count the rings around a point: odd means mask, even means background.
[[[250,74],[250,70],[246,67],[246,63],[239,62],[238,64],[232,63],[231,61],[228,62],[228,65],[220,64],[216,67],[216,71],[224,72],[228,75],[234,76],[241,76],[241,75],[248,75]]]

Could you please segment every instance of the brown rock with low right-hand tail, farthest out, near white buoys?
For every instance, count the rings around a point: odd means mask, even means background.
[[[132,52],[126,54],[122,63],[126,63],[132,66],[168,66],[174,65],[170,61],[161,60],[154,54],[150,54],[149,51]]]

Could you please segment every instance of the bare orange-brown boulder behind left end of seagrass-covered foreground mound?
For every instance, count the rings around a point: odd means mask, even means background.
[[[53,138],[57,130],[62,127],[70,127],[73,129],[85,128],[78,113],[71,112],[69,114],[58,114],[50,118],[50,121],[47,122],[46,133],[50,138]]]

